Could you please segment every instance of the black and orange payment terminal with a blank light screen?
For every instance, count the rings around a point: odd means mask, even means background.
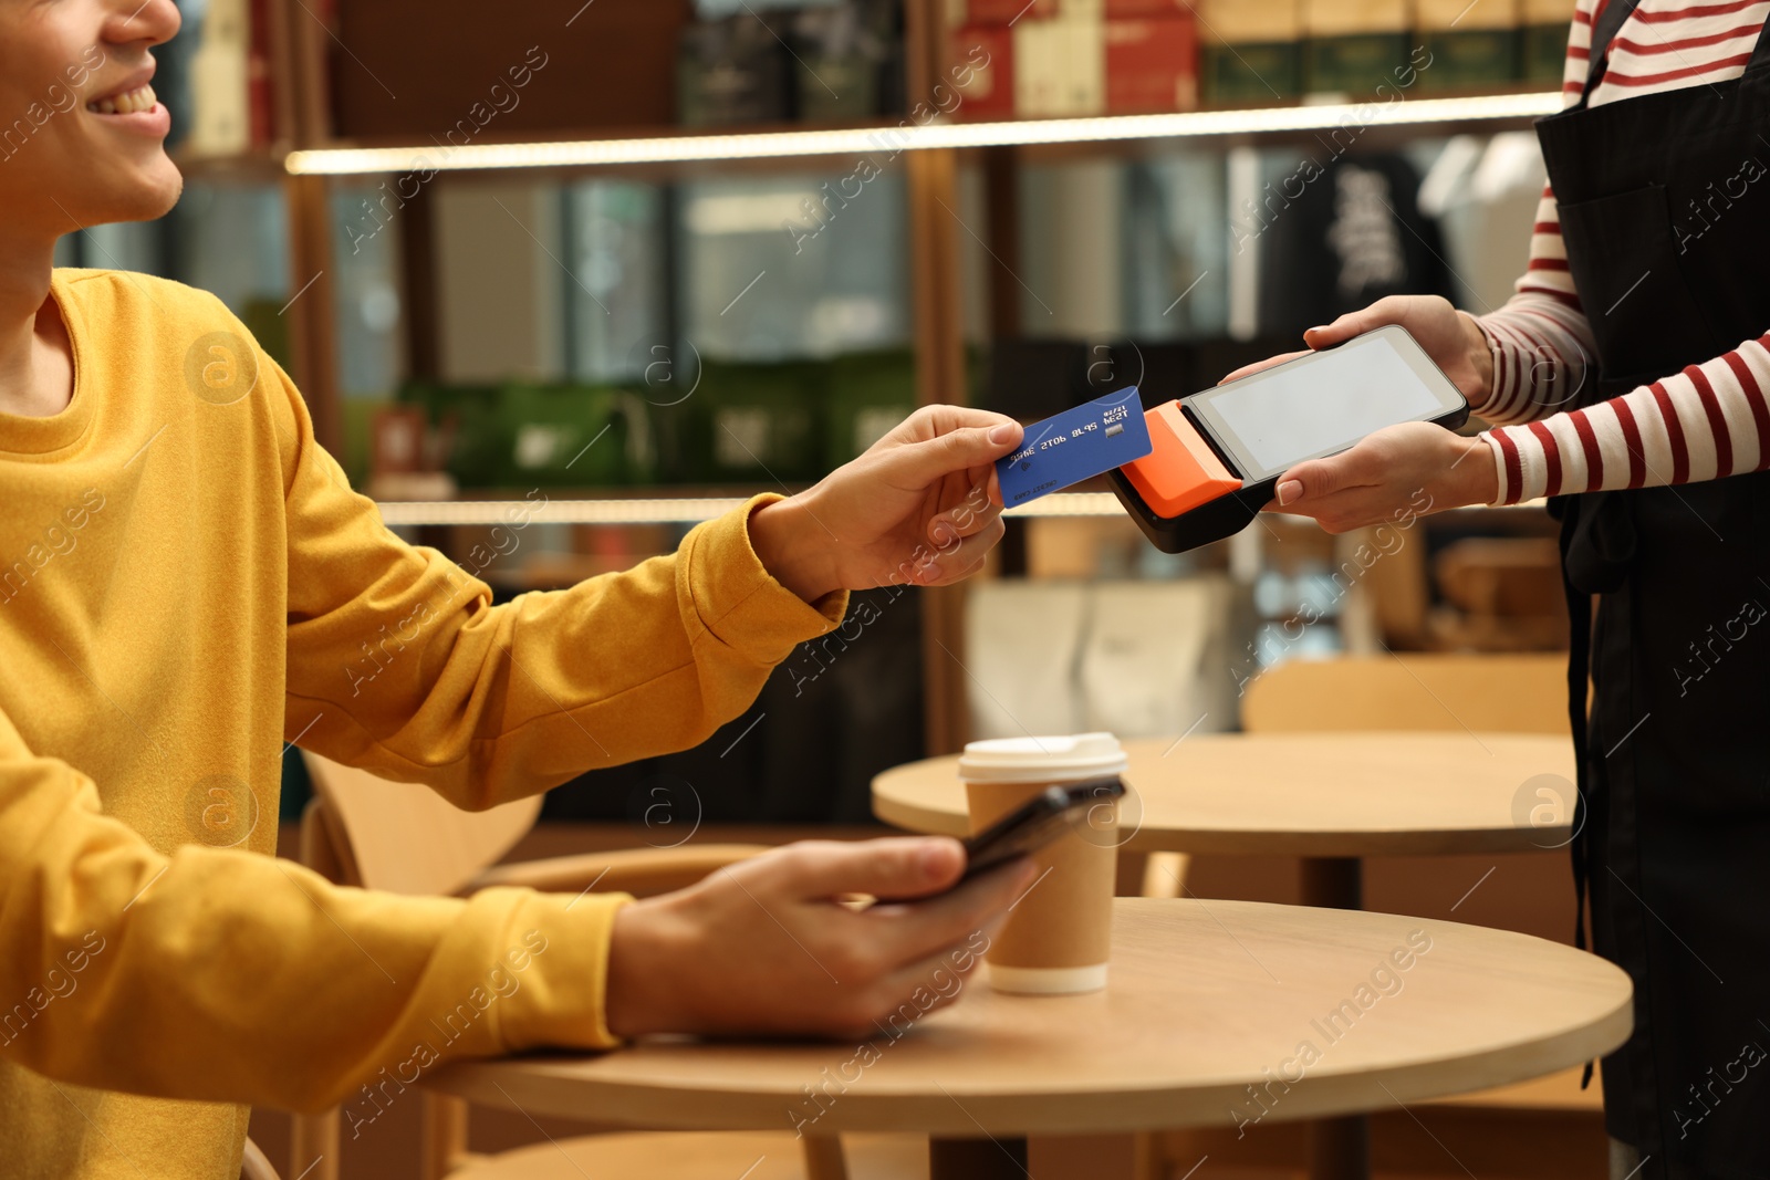
[[[1467,419],[1469,402],[1414,338],[1379,327],[1145,410],[1152,449],[1112,485],[1156,548],[1181,554],[1248,527],[1296,464],[1398,423]]]

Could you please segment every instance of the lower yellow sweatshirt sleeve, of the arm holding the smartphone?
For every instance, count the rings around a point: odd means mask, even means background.
[[[0,713],[0,1054],[57,1081],[352,1123],[435,1063],[614,1044],[623,895],[340,888],[290,862],[170,856]]]

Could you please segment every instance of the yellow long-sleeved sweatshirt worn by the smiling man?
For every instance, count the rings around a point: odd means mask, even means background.
[[[283,743],[485,808],[704,739],[844,598],[766,573],[752,502],[490,607],[212,295],[53,295],[74,398],[0,414],[0,1175],[232,1178],[248,1104],[354,1123],[439,1060],[611,1046],[625,899],[327,885],[269,854]]]

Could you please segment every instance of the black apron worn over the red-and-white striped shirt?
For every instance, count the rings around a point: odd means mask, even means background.
[[[1588,96],[1634,7],[1602,12]],[[1770,37],[1736,81],[1597,110],[1582,97],[1536,131],[1598,345],[1579,403],[1770,329]],[[1574,616],[1574,872],[1595,950],[1635,985],[1634,1037],[1604,1061],[1605,1123],[1650,1157],[1643,1180],[1770,1178],[1770,474],[1554,510]]]

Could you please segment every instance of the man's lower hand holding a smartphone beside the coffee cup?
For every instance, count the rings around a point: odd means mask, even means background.
[[[950,837],[807,840],[634,902],[609,943],[609,1031],[864,1038],[947,1005],[1039,876],[1021,860],[952,888],[963,870]]]

